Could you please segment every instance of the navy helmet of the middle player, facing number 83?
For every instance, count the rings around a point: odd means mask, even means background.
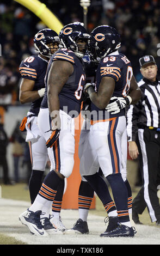
[[[83,27],[83,23],[74,22],[64,26],[59,33],[59,38],[63,47],[73,51],[77,57],[83,58],[87,51],[87,41],[90,35]],[[82,42],[78,42],[81,39]],[[86,44],[83,44],[86,41]]]

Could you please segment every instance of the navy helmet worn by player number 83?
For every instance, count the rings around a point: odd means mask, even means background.
[[[120,46],[120,36],[113,27],[99,26],[90,34],[89,52],[98,61],[116,51]]]

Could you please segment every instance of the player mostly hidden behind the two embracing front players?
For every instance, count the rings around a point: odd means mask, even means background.
[[[90,61],[84,62],[85,66],[85,74],[86,74],[86,82],[87,83],[95,83],[95,77],[96,77],[96,69],[99,64],[96,59],[93,58],[93,56],[90,54]],[[87,94],[88,95],[88,94]],[[79,159],[80,159],[80,169],[79,172],[81,174],[82,172],[82,156],[83,156],[83,149],[84,149],[84,142],[87,139],[87,136],[89,134],[90,130],[90,98],[89,96],[85,95],[83,97],[83,107],[81,114],[84,118],[83,125],[82,125],[82,130],[81,130],[81,136],[79,139],[79,149],[78,149],[78,154],[79,154]],[[116,99],[115,99],[116,98]],[[113,98],[111,98],[113,99]],[[114,102],[120,101],[119,97],[114,97]],[[121,100],[124,100],[122,97]],[[113,103],[110,103],[112,105]],[[111,114],[114,113],[115,111],[120,112],[120,109],[118,107],[118,103],[114,103],[113,107],[108,105],[107,108],[112,110]],[[117,108],[116,108],[117,107]],[[127,187],[127,192],[128,192],[128,211],[130,213],[130,216],[132,216],[132,191],[130,184],[128,183],[127,180],[127,170],[126,170],[126,162],[127,162],[127,136],[126,136],[126,131],[124,132],[122,136],[122,179],[125,181],[125,185]],[[99,169],[99,173],[102,174],[101,169]],[[105,186],[105,184],[103,184]],[[108,191],[109,193],[109,191]],[[89,229],[88,229],[88,224],[87,224],[87,217],[88,217],[88,212],[91,206],[91,203],[93,201],[94,197],[94,189],[89,185],[89,182],[82,176],[82,181],[79,186],[79,192],[78,192],[78,213],[79,213],[79,219],[77,222],[74,224],[72,229],[67,229],[65,234],[88,234]],[[108,225],[108,230],[113,228],[116,223],[117,218],[115,218],[115,212],[114,208],[107,209],[106,208],[106,203],[105,201],[102,202],[104,204],[104,208],[107,211],[108,218],[107,222],[109,221]],[[109,211],[108,211],[109,210]],[[118,221],[117,221],[118,222]]]

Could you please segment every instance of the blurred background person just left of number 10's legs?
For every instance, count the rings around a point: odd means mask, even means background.
[[[22,132],[20,131],[20,121],[17,121],[14,131],[9,139],[13,143],[12,154],[14,159],[14,181],[18,183],[20,181],[19,177],[19,163],[20,158],[23,156],[23,144],[25,139],[22,137]]]

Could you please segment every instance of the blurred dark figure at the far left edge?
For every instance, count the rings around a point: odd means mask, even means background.
[[[3,182],[5,185],[11,185],[8,174],[8,163],[7,163],[7,146],[8,146],[7,133],[4,130],[3,123],[1,122],[0,116],[0,167],[3,168]]]

